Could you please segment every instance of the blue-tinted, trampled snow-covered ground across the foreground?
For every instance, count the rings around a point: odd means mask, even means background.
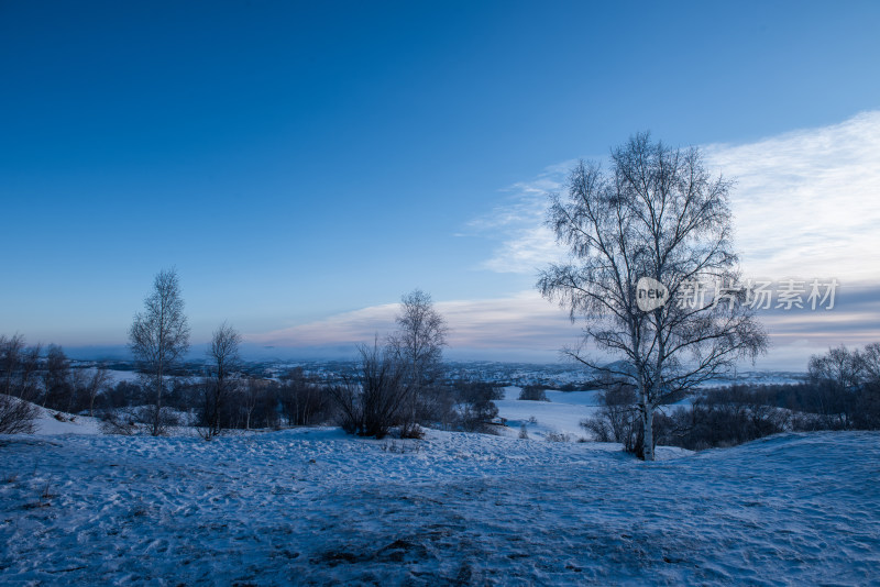
[[[878,582],[880,434],[661,454],[436,431],[0,436],[0,584]]]

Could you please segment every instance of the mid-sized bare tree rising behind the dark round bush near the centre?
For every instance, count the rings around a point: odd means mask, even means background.
[[[413,421],[441,417],[438,408],[444,406],[436,386],[442,374],[443,347],[447,345],[446,320],[433,307],[431,296],[414,289],[400,299],[400,313],[396,317],[397,330],[388,337],[388,345],[407,369]]]

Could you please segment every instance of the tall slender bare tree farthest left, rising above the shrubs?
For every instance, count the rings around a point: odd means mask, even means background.
[[[166,370],[189,350],[189,325],[175,269],[156,274],[153,291],[144,300],[144,311],[134,317],[129,331],[129,346],[151,380],[155,405],[152,434],[163,430],[162,390]]]

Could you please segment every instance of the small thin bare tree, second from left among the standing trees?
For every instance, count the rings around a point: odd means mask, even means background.
[[[211,361],[210,376],[205,387],[202,414],[207,438],[217,436],[222,431],[221,414],[235,384],[232,377],[241,366],[240,345],[241,334],[226,322],[220,324],[211,336],[211,344],[208,347],[208,357]]]

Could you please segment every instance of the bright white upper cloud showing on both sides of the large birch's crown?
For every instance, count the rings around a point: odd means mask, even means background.
[[[732,208],[747,275],[880,279],[880,111],[703,152],[710,169],[737,181]],[[547,195],[572,164],[510,186],[507,206],[470,224],[501,241],[482,268],[534,274],[561,256],[542,221]]]

